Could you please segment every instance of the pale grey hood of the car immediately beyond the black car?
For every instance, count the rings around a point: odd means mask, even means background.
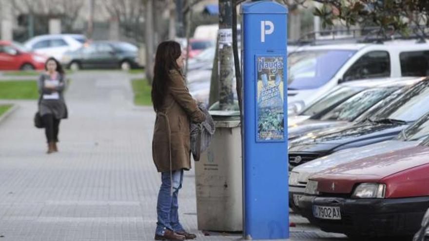
[[[348,121],[322,121],[309,119],[296,124],[294,127],[288,127],[288,139],[295,139],[314,130],[326,130],[327,128],[346,127],[350,125],[351,122]],[[312,136],[314,133],[309,134]]]

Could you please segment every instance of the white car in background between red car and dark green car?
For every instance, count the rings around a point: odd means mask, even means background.
[[[60,61],[65,52],[77,50],[85,42],[86,37],[84,35],[40,35],[26,41],[24,46],[36,53],[49,57],[53,56]]]

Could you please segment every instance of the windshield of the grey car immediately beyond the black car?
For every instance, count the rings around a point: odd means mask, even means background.
[[[323,115],[321,120],[352,121],[399,87],[374,88],[357,93]]]

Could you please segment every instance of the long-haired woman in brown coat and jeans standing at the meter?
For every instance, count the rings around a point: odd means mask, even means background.
[[[191,168],[190,122],[205,120],[181,73],[184,59],[179,43],[165,41],[158,45],[152,85],[156,111],[152,155],[162,183],[156,206],[155,240],[196,238],[183,229],[177,211],[183,170]]]

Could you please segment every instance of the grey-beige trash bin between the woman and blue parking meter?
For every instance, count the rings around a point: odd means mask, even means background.
[[[215,135],[195,162],[199,230],[242,231],[242,158],[239,111],[210,108]],[[238,109],[238,106],[237,108]]]

